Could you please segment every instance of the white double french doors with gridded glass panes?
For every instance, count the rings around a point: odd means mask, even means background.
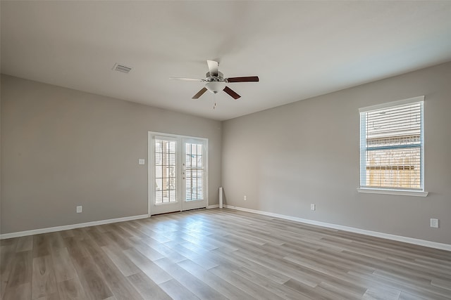
[[[149,214],[206,207],[208,140],[149,132]]]

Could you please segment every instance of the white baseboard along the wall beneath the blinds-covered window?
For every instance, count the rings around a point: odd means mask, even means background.
[[[284,214],[274,214],[274,213],[268,212],[268,211],[259,211],[256,209],[246,209],[243,207],[235,207],[233,205],[224,204],[224,207],[226,207],[228,209],[236,209],[239,211],[252,212],[254,214],[262,214],[264,216],[273,216],[276,218],[295,221],[295,222],[299,222],[299,223],[307,223],[310,225],[316,225],[316,226],[322,226],[322,227],[326,227],[326,228],[333,228],[333,229],[338,229],[338,230],[343,230],[343,231],[349,231],[350,233],[360,233],[362,235],[370,235],[372,237],[382,237],[387,240],[395,240],[398,242],[407,242],[409,244],[417,244],[420,246],[451,251],[451,244],[442,244],[440,242],[431,242],[428,240],[420,240],[420,239],[415,239],[413,237],[403,237],[401,235],[390,235],[388,233],[378,233],[377,231],[364,230],[364,229],[348,227],[348,226],[341,226],[341,225],[337,225],[337,224],[324,223],[324,222],[314,221],[314,220],[309,220],[309,219],[302,219],[302,218],[297,218],[295,216],[285,216]]]

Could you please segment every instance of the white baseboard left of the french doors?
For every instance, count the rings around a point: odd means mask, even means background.
[[[25,231],[19,231],[17,233],[4,233],[3,235],[0,235],[0,240],[8,239],[11,237],[24,237],[25,235],[39,235],[41,233],[54,233],[55,231],[61,231],[61,230],[70,230],[70,229],[75,229],[75,228],[97,226],[97,225],[104,225],[104,224],[110,224],[110,223],[132,221],[132,220],[137,220],[137,219],[146,219],[146,218],[149,218],[148,214],[141,214],[139,216],[124,216],[123,218],[116,218],[116,219],[107,219],[107,220],[92,221],[92,222],[86,222],[86,223],[77,223],[77,224],[70,224],[70,225],[63,225],[63,226],[56,226],[56,227],[49,227],[49,228],[25,230]]]

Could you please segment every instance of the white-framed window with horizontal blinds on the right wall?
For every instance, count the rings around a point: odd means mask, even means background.
[[[359,110],[359,192],[427,195],[423,101],[421,96]]]

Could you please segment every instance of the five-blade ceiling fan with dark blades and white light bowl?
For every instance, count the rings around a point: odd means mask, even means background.
[[[226,84],[231,84],[235,82],[258,82],[258,76],[248,76],[248,77],[229,77],[224,78],[223,73],[218,71],[219,63],[214,60],[207,60],[207,65],[209,65],[209,72],[206,72],[205,79],[195,79],[195,78],[183,78],[183,77],[170,77],[171,79],[187,80],[187,81],[203,81],[206,82],[205,86],[197,92],[192,99],[198,99],[207,90],[211,93],[218,93],[218,91],[225,91],[230,97],[237,100],[241,96],[238,95],[233,89],[230,89]]]

